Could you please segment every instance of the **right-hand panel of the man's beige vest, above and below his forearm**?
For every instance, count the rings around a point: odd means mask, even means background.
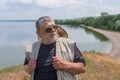
[[[65,61],[73,62],[75,42],[67,38],[59,38],[56,41],[56,56]],[[66,71],[57,70],[58,80],[78,80],[77,75],[70,74]]]

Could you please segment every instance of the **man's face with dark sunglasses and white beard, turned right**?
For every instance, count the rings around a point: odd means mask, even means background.
[[[57,28],[53,27],[55,25],[54,21],[45,21],[42,22],[40,30],[38,30],[38,36],[45,42],[55,42],[58,38]]]

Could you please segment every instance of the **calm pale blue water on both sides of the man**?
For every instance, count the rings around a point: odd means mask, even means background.
[[[80,51],[109,52],[111,43],[101,41],[84,28],[62,27],[77,42]],[[22,64],[25,45],[37,40],[34,22],[0,22],[0,69]]]

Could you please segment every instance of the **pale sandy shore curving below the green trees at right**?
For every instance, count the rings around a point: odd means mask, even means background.
[[[88,27],[88,28],[105,35],[112,43],[112,49],[108,54],[120,60],[120,33],[101,30],[93,27]]]

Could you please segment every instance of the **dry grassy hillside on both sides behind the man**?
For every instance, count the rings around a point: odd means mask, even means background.
[[[87,70],[79,80],[120,80],[120,63],[114,58],[97,52],[84,52]],[[0,80],[29,80],[23,65],[0,70]]]

